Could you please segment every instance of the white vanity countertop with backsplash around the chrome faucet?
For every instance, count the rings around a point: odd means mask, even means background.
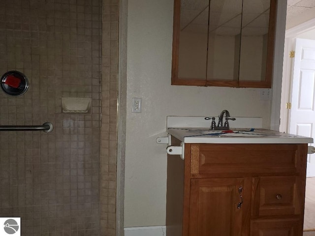
[[[211,117],[211,116],[209,116]],[[312,144],[313,138],[262,129],[262,118],[237,117],[230,131],[210,130],[204,117],[167,117],[167,132],[183,143]],[[237,128],[234,128],[237,127]],[[234,128],[234,129],[233,129]]]

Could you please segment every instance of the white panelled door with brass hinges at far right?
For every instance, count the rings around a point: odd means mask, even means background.
[[[315,139],[315,40],[296,39],[290,134]],[[312,145],[312,144],[310,144]],[[315,154],[308,154],[307,177],[315,177]]]

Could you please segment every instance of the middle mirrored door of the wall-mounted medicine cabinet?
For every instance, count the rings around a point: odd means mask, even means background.
[[[238,86],[242,0],[211,0],[207,85]]]

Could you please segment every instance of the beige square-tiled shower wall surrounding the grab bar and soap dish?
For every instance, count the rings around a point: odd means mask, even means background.
[[[22,96],[0,90],[0,217],[22,236],[115,236],[118,0],[1,0],[0,75],[23,72]],[[62,97],[90,97],[87,114]]]

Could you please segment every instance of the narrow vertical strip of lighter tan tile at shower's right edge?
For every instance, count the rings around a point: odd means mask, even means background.
[[[119,0],[103,0],[100,233],[116,235]]]

